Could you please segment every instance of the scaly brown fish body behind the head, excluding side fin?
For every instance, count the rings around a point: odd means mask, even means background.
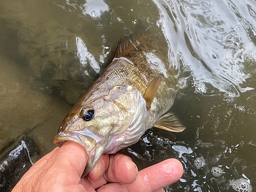
[[[161,51],[166,52],[166,50]],[[118,51],[110,65],[79,101],[95,99],[104,94],[106,90],[119,85],[131,86],[143,95],[150,82],[162,75],[162,82],[153,100],[152,108],[149,110],[150,114],[147,116],[147,129],[150,129],[158,118],[173,105],[177,92],[174,69],[167,71],[167,66],[162,61],[167,61],[167,59],[160,59],[154,52],[156,52],[154,40],[149,36],[140,36],[136,42]],[[148,58],[148,55],[151,58]]]

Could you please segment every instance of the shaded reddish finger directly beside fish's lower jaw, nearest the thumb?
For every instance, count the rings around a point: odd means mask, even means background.
[[[101,155],[97,163],[87,175],[87,177],[91,181],[98,181],[103,176],[105,171],[109,168],[109,162],[110,158],[108,154]]]

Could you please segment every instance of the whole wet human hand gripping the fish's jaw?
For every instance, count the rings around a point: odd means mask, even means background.
[[[182,164],[176,159],[167,159],[138,172],[130,157],[103,154],[91,172],[81,178],[87,162],[86,150],[67,141],[38,160],[12,192],[160,192],[183,174]]]

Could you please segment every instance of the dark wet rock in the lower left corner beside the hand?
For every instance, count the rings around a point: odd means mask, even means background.
[[[23,136],[0,159],[0,191],[11,191],[38,159],[38,148],[34,140]]]

